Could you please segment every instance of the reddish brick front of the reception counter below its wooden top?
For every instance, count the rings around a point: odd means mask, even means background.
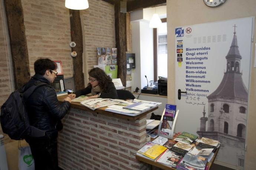
[[[78,109],[72,104],[62,120],[63,130],[58,137],[59,167],[64,170],[147,169],[146,164],[135,159],[137,150],[146,143],[146,113],[134,119],[97,110]]]

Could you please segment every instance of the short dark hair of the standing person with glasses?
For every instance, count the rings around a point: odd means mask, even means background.
[[[55,70],[56,68],[57,64],[48,58],[37,59],[34,63],[35,74],[44,75],[47,69]]]

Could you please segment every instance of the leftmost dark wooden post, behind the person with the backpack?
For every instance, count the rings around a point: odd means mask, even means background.
[[[30,79],[29,54],[21,0],[4,0],[13,61],[15,89]]]

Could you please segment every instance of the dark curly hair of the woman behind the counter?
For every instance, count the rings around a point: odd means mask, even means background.
[[[91,69],[88,73],[89,76],[98,80],[101,90],[106,92],[108,89],[108,83],[112,82],[112,79],[108,75],[106,75],[106,73],[102,69],[98,67]],[[88,85],[92,86],[90,83]]]

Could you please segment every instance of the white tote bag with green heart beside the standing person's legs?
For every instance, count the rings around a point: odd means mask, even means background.
[[[35,170],[35,162],[29,146],[19,147],[19,170]]]

